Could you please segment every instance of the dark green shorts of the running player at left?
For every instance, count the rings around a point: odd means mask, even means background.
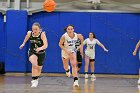
[[[34,53],[32,51],[28,51],[28,57],[30,57],[31,55],[36,55],[38,57],[38,66],[42,66],[43,63],[44,63],[44,60],[45,60],[45,56],[46,56],[46,53],[43,52],[43,53]]]

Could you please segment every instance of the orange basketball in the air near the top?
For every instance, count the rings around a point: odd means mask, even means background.
[[[44,11],[52,12],[54,11],[55,7],[56,7],[56,3],[54,0],[45,0],[45,2],[43,3]]]

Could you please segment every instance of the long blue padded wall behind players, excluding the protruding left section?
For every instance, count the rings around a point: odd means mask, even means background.
[[[64,33],[63,28],[73,24],[75,32],[83,34],[84,38],[88,37],[89,32],[94,32],[109,49],[109,53],[105,53],[96,46],[95,73],[137,74],[138,57],[133,57],[132,52],[138,41],[139,20],[139,14],[41,12],[29,17],[29,28],[37,21],[43,30],[50,30],[46,32],[49,48],[46,50],[44,72],[64,72],[58,41]],[[84,60],[81,72],[84,72]]]

